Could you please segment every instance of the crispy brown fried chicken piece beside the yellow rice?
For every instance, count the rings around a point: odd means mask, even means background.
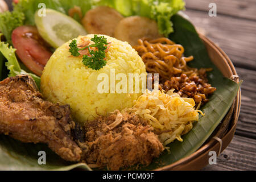
[[[0,134],[26,143],[47,143],[61,158],[75,162],[82,151],[72,140],[73,129],[69,106],[44,101],[30,76],[0,82]]]

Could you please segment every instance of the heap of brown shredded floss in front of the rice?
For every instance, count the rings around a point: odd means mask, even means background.
[[[136,114],[115,111],[87,123],[85,130],[89,150],[84,160],[91,166],[111,170],[137,163],[147,166],[164,150],[152,127]]]

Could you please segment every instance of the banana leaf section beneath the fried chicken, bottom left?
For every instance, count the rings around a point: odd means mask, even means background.
[[[46,152],[46,164],[39,165],[39,151]],[[61,159],[46,144],[22,143],[0,135],[0,171],[2,170],[61,170],[73,168],[90,170],[84,163],[70,163]]]

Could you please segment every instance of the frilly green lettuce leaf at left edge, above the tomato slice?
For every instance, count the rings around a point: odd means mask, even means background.
[[[11,42],[11,34],[13,30],[17,27],[23,25],[24,22],[24,14],[19,11],[5,11],[4,13],[0,13],[0,31],[9,44]]]

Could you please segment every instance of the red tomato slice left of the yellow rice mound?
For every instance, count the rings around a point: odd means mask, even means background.
[[[42,75],[44,66],[52,53],[48,44],[39,35],[34,26],[15,28],[11,35],[13,46],[19,59],[30,71],[38,76]]]

